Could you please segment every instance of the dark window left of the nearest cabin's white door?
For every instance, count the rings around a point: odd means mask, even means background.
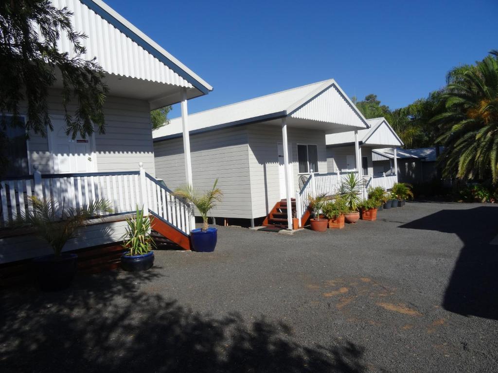
[[[11,116],[0,115],[1,129],[6,137],[0,150],[2,157],[7,159],[7,165],[3,171],[5,177],[29,174],[24,118],[18,119],[19,122],[13,125]]]

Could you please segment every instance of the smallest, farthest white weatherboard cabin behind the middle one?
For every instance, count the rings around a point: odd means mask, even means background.
[[[367,119],[367,122],[370,128],[359,130],[357,134],[350,131],[334,136],[327,135],[327,171],[357,171],[356,141],[361,159],[360,176],[365,180],[366,189],[377,186],[390,189],[397,182],[397,174],[375,172],[378,169],[374,168],[373,150],[392,147],[395,154],[396,147],[402,146],[403,142],[385,118]]]

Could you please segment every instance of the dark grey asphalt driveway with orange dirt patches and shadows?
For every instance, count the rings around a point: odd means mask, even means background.
[[[498,206],[377,217],[3,291],[0,371],[498,372]]]

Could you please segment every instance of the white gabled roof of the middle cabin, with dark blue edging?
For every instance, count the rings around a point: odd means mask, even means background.
[[[191,133],[289,117],[301,121],[367,128],[367,120],[333,79],[191,114]],[[153,132],[154,141],[182,133],[181,117]]]

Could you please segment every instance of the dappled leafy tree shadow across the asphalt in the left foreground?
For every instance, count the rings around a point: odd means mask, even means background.
[[[289,326],[264,317],[195,312],[155,294],[157,277],[113,271],[61,292],[3,291],[0,371],[364,371],[363,349],[353,343],[307,346]]]

